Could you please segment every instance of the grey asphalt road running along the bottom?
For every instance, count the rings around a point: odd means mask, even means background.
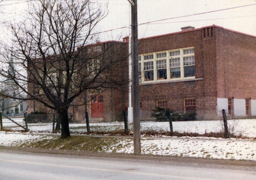
[[[136,158],[138,157],[138,158]],[[255,166],[0,151],[0,179],[256,179]]]

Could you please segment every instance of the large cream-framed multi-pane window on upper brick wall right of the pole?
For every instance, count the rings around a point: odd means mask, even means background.
[[[194,47],[141,54],[140,82],[195,79]]]

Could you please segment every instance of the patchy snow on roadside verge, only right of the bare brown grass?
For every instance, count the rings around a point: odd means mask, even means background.
[[[119,144],[122,144],[125,148],[111,147],[106,152],[133,153],[133,141],[131,139],[122,140]],[[163,156],[256,161],[256,141],[179,138],[142,139],[141,152]]]

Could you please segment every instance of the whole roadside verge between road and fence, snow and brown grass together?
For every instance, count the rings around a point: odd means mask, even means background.
[[[76,141],[76,139],[79,140]],[[87,139],[91,139],[90,142],[88,142]],[[84,151],[84,149],[88,149],[88,146],[91,146],[92,148],[90,151],[106,153],[133,153],[133,140],[129,138],[111,139],[108,137],[93,138],[79,136],[72,137],[69,141],[66,140],[59,144],[58,142],[60,141],[59,137],[51,135],[0,132],[0,146],[3,147],[41,147],[63,150],[66,148],[73,151]],[[39,146],[35,146],[37,142],[40,142],[38,143]],[[90,144],[92,142],[95,147]],[[97,142],[99,143],[97,144]],[[51,147],[49,147],[49,144]],[[157,154],[164,156],[256,161],[255,140],[206,138],[141,139],[141,151],[143,154]]]

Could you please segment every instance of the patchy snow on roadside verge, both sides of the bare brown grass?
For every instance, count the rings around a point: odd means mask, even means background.
[[[0,146],[15,147],[36,140],[54,139],[51,135],[0,132]],[[103,148],[106,153],[133,153],[133,140],[120,138],[118,142]],[[255,140],[234,139],[141,139],[142,154],[183,156],[195,158],[216,158],[256,161]]]

